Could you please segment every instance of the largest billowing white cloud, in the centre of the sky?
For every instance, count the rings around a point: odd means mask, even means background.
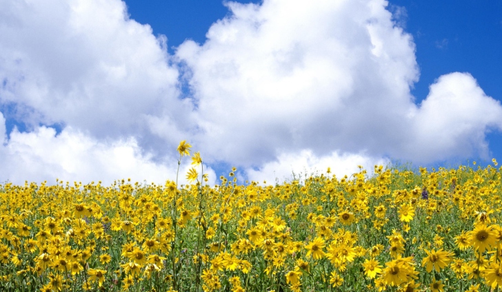
[[[381,154],[404,132],[418,78],[411,36],[383,1],[317,4],[229,3],[208,41],[179,47],[210,156],[261,165],[299,149]]]

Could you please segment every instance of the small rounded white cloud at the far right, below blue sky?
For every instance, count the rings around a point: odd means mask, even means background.
[[[489,158],[485,133],[502,129],[502,107],[466,73],[441,76],[412,116],[413,139],[403,157],[431,162],[447,158]]]

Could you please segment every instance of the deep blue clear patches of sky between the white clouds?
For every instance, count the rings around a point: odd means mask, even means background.
[[[261,3],[261,1],[237,1]],[[228,15],[221,0],[127,0],[132,19],[152,25],[154,34],[168,36],[172,52],[185,39],[204,43],[208,27]],[[412,34],[420,79],[412,94],[420,103],[442,74],[470,72],[484,92],[502,101],[502,2],[389,1],[388,9]],[[489,133],[492,157],[502,159],[502,135]],[[480,159],[480,158],[477,158]],[[476,160],[475,157],[471,159]],[[455,163],[466,163],[457,160]],[[434,166],[443,166],[433,163]],[[226,167],[227,165],[225,165]],[[224,167],[223,167],[224,168]]]

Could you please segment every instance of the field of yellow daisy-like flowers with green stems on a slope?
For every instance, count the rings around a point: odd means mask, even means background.
[[[495,160],[209,186],[190,148],[190,185],[0,185],[0,291],[502,291]]]

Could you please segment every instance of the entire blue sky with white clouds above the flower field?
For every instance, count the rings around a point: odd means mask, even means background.
[[[0,182],[502,161],[501,1],[0,0],[0,36]]]

